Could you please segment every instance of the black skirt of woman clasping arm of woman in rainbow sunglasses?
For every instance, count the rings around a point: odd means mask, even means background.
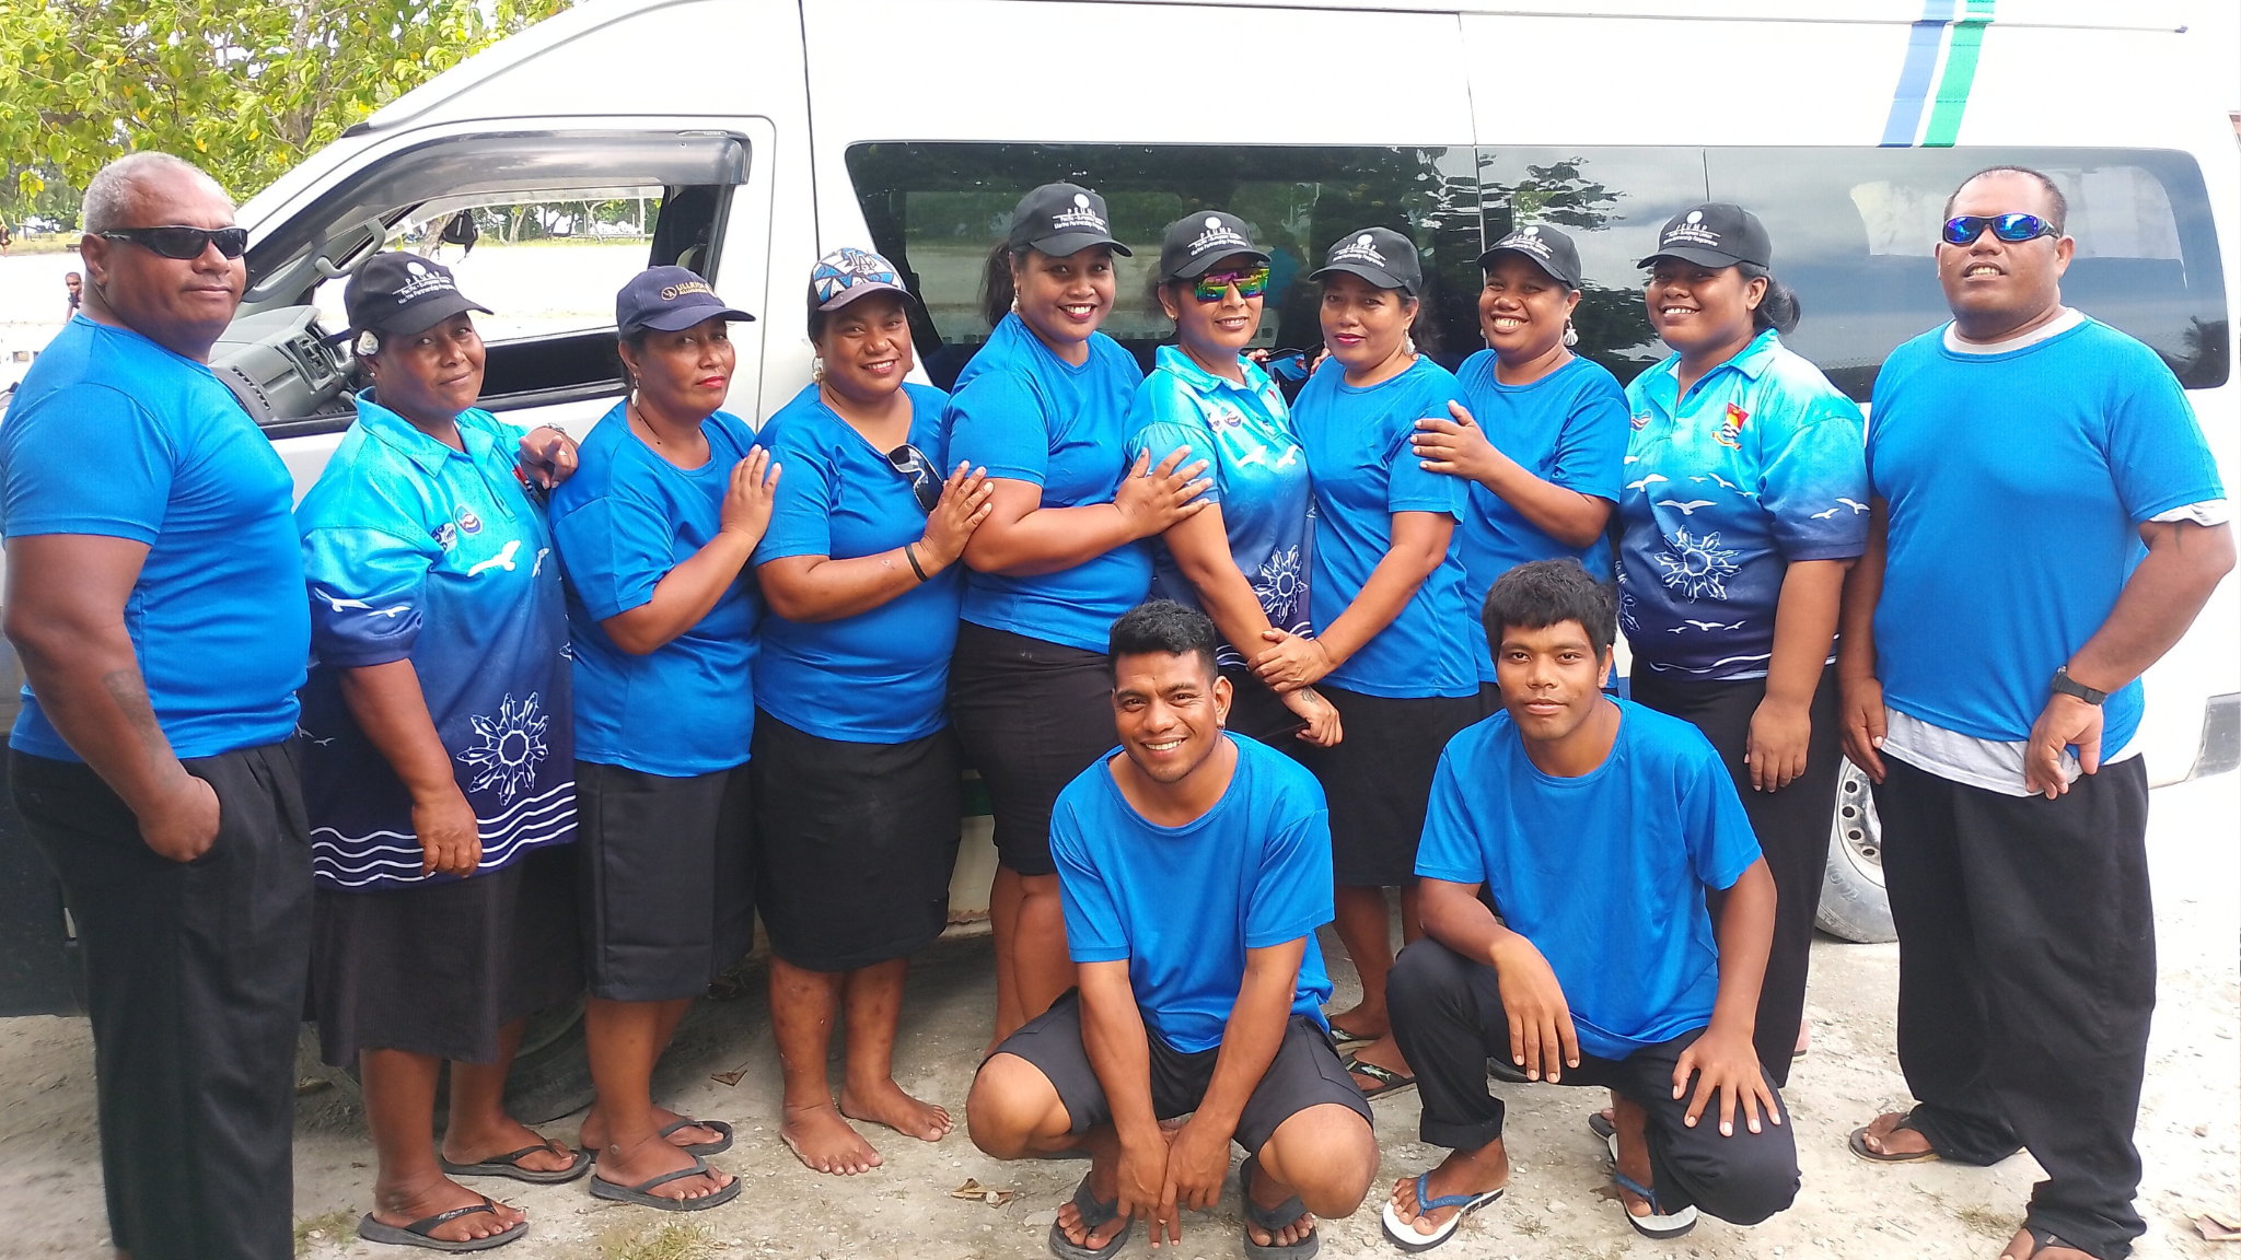
[[[1302,742],[1298,753],[1331,803],[1331,874],[1345,888],[1398,888],[1416,879],[1439,753],[1479,720],[1479,697],[1363,695],[1329,684],[1315,691],[1347,729],[1338,747]]]

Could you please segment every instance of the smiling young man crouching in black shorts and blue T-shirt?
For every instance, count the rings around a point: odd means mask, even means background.
[[[1006,1038],[966,1101],[997,1159],[1089,1150],[1051,1226],[1064,1260],[1120,1251],[1138,1215],[1154,1247],[1181,1242],[1181,1208],[1221,1197],[1230,1139],[1255,1260],[1313,1256],[1315,1217],[1354,1213],[1378,1170],[1369,1103],[1322,1022],[1322,787],[1221,731],[1215,643],[1212,621],[1168,601],[1114,621],[1120,749],[1051,816],[1080,989]]]

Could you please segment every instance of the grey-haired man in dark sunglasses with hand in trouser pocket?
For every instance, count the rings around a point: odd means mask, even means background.
[[[85,946],[110,1238],[134,1260],[294,1253],[311,626],[287,466],[206,365],[244,244],[195,166],[105,166],[85,307],[0,428],[29,679],[9,780]]]

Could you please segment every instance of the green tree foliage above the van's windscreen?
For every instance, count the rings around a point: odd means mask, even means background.
[[[571,0],[0,0],[0,213],[161,148],[249,197]],[[74,204],[74,200],[72,200]]]

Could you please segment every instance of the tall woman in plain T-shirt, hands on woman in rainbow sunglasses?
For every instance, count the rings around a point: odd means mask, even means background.
[[[1199,511],[1201,469],[1123,455],[1143,370],[1098,332],[1114,305],[1105,197],[1044,184],[988,253],[995,332],[957,374],[948,460],[986,469],[966,545],[950,720],[995,805],[995,1040],[1073,986],[1051,863],[1051,805],[1114,747],[1112,623],[1152,587],[1145,538]]]

